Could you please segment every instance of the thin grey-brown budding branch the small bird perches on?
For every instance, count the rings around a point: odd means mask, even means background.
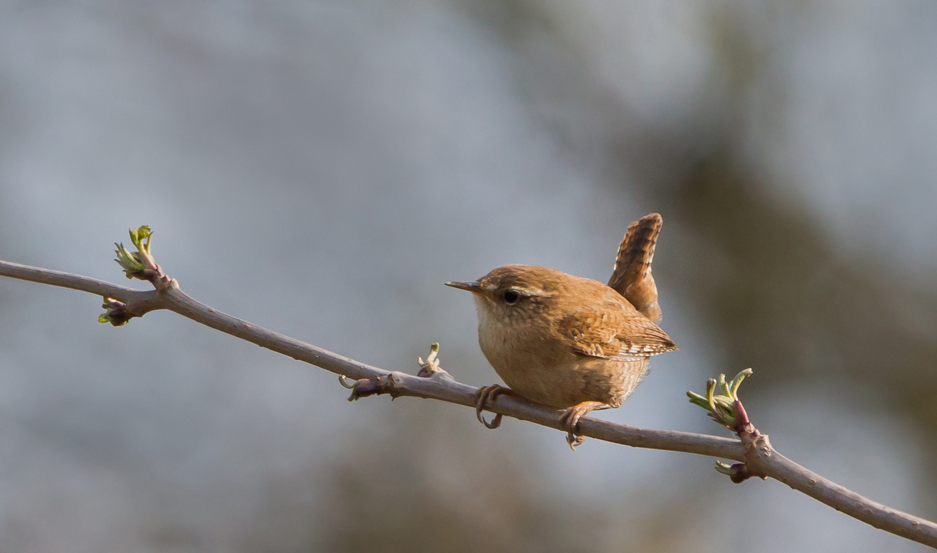
[[[147,234],[148,232],[147,229]],[[142,251],[139,241],[134,239],[134,244]],[[127,275],[153,282],[156,290],[152,291],[137,291],[97,278],[3,261],[0,261],[0,277],[29,280],[102,296],[105,298],[108,313],[102,315],[101,320],[110,321],[115,325],[123,324],[133,317],[141,317],[149,311],[168,309],[192,321],[201,322],[262,348],[320,366],[340,375],[343,379],[349,376],[356,380],[353,384],[349,384],[354,388],[350,399],[372,394],[388,394],[394,397],[423,397],[468,407],[475,406],[475,394],[478,388],[454,381],[448,372],[440,369],[435,360],[435,351],[431,354],[429,363],[423,365],[421,360],[423,367],[420,376],[414,376],[365,365],[290,336],[277,334],[250,322],[231,317],[189,297],[179,288],[175,279],[165,276],[156,262],[153,262],[153,258],[149,255],[148,244],[145,248],[145,255],[138,258],[142,268],[134,272],[133,269],[127,269],[124,262],[122,265],[125,266]],[[110,298],[118,301],[109,303]],[[735,388],[737,389],[737,385]],[[741,407],[740,402],[738,402],[738,407]],[[486,410],[542,426],[564,429],[560,422],[561,410],[538,405],[521,397],[498,396],[487,404]],[[744,412],[744,409],[740,411]],[[745,422],[748,423],[747,416]],[[758,432],[754,426],[751,426],[751,430],[738,431],[736,429],[736,431],[739,433],[740,440],[676,430],[636,428],[592,418],[583,418],[577,430],[582,436],[632,447],[732,459],[738,461],[732,467],[721,465],[727,467],[727,471],[736,471],[738,477],[733,476],[734,481],[741,482],[751,476],[774,478],[875,528],[920,544],[937,547],[937,524],[871,501],[819,474],[808,471],[778,453],[767,440],[767,436]]]

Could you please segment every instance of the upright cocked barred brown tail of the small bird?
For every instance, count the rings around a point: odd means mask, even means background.
[[[655,322],[661,320],[661,306],[657,303],[657,285],[650,274],[650,263],[654,259],[654,247],[662,225],[663,218],[657,213],[628,225],[618,247],[612,277],[608,280],[608,286]]]

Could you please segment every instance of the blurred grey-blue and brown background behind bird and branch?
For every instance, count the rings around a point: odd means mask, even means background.
[[[602,281],[662,213],[680,350],[618,423],[728,435],[937,517],[937,6],[0,2],[0,259],[197,299],[360,361],[497,381],[468,294]],[[145,289],[142,283],[135,283]],[[172,313],[0,279],[4,551],[921,551],[713,459],[372,397]]]

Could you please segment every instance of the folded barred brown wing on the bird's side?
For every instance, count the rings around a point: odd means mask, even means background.
[[[583,308],[559,325],[573,339],[573,351],[590,357],[633,360],[677,349],[660,326],[623,308]]]

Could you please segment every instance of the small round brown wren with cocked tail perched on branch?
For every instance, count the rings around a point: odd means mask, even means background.
[[[651,277],[662,218],[654,213],[628,227],[608,284],[536,265],[504,265],[472,282],[447,282],[474,294],[478,341],[510,389],[479,390],[476,411],[516,394],[565,409],[570,446],[582,443],[576,424],[587,412],[619,407],[647,374],[647,358],[677,349],[655,324],[661,318]]]

